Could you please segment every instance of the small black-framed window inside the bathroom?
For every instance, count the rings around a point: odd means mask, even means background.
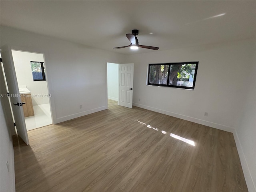
[[[45,70],[44,62],[30,61],[33,80],[34,81],[45,81]]]

